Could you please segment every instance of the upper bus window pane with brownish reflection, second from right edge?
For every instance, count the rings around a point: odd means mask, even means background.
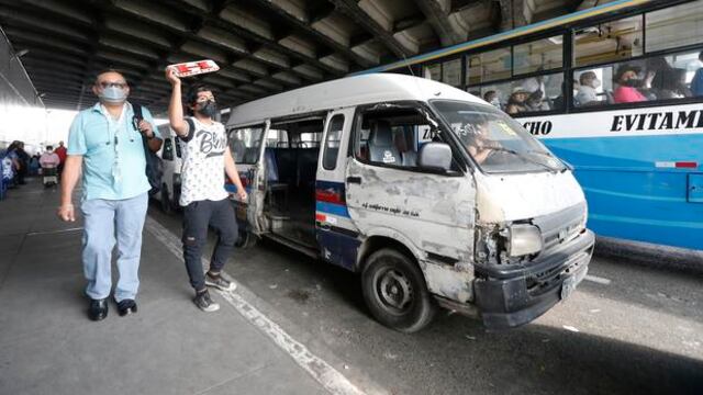
[[[573,35],[573,65],[588,66],[643,55],[641,15],[585,27]]]

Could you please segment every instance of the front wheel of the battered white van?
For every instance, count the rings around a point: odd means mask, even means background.
[[[394,249],[383,248],[368,258],[361,289],[371,315],[387,327],[411,334],[434,317],[436,306],[422,271]]]

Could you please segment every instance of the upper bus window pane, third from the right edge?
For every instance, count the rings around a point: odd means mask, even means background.
[[[563,36],[515,45],[513,48],[513,74],[521,75],[542,70],[551,70],[562,66]]]

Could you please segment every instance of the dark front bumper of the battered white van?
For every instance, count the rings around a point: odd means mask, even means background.
[[[595,237],[585,230],[527,267],[476,267],[476,305],[489,329],[512,328],[543,315],[580,283],[593,253]]]

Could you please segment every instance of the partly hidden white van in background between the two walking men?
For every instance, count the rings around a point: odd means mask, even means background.
[[[161,203],[161,210],[166,213],[179,207],[180,199],[180,170],[182,160],[180,157],[180,144],[176,132],[170,128],[168,123],[157,127],[164,144],[161,149],[156,153],[161,159],[161,188],[154,194],[154,199],[158,199]]]

